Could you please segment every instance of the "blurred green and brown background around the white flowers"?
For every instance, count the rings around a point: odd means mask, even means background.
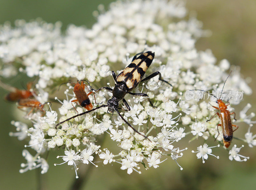
[[[0,24],[5,21],[12,23],[16,19],[31,20],[41,17],[46,22],[63,23],[63,30],[68,24],[85,25],[88,28],[96,21],[92,12],[97,10],[99,4],[108,7],[110,0],[82,1],[82,0],[1,0]],[[256,80],[256,1],[254,0],[188,0],[188,11],[196,11],[198,20],[203,21],[204,29],[210,29],[212,36],[201,38],[196,47],[198,50],[211,49],[218,60],[228,59],[231,64],[241,67],[244,77],[251,77],[253,94],[255,94]],[[212,73],[218,75],[218,73]],[[26,83],[26,82],[24,82]],[[21,87],[21,83],[11,80],[10,84]],[[6,91],[0,89],[0,97],[4,97]],[[64,164],[53,166],[58,153],[50,153],[50,168],[43,176],[38,175],[37,170],[20,174],[20,163],[25,162],[21,155],[24,143],[15,137],[9,137],[9,131],[14,131],[10,124],[15,119],[13,112],[15,104],[0,100],[1,114],[1,189],[36,189],[37,178],[42,178],[44,189],[68,189],[75,179],[72,167]],[[236,107],[240,111],[247,103],[252,104],[250,111],[256,112],[256,98],[254,95],[245,97],[243,102]],[[238,112],[236,111],[236,112]],[[244,137],[247,131],[246,125],[242,125],[236,132],[237,137]],[[255,127],[252,128],[256,133]],[[241,142],[234,140],[237,144]],[[234,143],[233,142],[233,143]],[[111,141],[105,141],[103,146],[109,147]],[[220,160],[209,157],[206,163],[197,160],[191,149],[203,142],[192,142],[189,145],[180,144],[180,147],[189,147],[184,156],[178,159],[184,170],[180,171],[174,161],[168,159],[158,169],[150,169],[142,174],[133,172],[128,175],[120,170],[119,164],[103,165],[99,162],[99,168],[91,168],[83,189],[255,189],[256,186],[256,148],[243,148],[241,154],[250,156],[247,162],[235,162],[228,160],[227,152],[223,149],[214,152],[220,156]],[[211,146],[216,143],[212,142]],[[29,150],[30,151],[30,150]],[[115,150],[112,150],[113,152]],[[31,153],[32,150],[30,151]],[[61,151],[60,151],[61,152]],[[79,170],[80,172],[82,171]],[[81,176],[80,176],[81,178]]]

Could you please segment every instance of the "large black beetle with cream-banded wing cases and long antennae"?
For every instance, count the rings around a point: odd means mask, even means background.
[[[142,54],[141,54],[142,53]],[[141,54],[141,55],[140,55]],[[140,55],[139,57],[137,57],[138,55]],[[77,116],[80,115],[84,115],[87,114],[89,112],[92,112],[96,109],[99,109],[101,107],[108,107],[108,112],[110,113],[114,113],[115,111],[118,113],[118,115],[122,118],[122,120],[129,125],[129,127],[131,127],[135,132],[137,132],[138,134],[142,135],[139,131],[137,131],[136,129],[134,129],[132,127],[131,124],[129,124],[124,117],[120,114],[119,109],[124,110],[124,111],[130,111],[131,108],[129,107],[128,103],[126,102],[126,100],[124,99],[124,96],[128,93],[131,94],[133,96],[143,96],[143,97],[148,97],[148,94],[146,93],[132,93],[130,91],[132,91],[134,88],[136,88],[138,86],[138,84],[140,82],[143,81],[147,81],[157,75],[159,75],[159,80],[163,81],[169,85],[171,85],[170,83],[168,83],[167,81],[162,79],[162,75],[159,71],[149,75],[148,77],[144,78],[143,80],[142,77],[145,74],[145,72],[148,70],[148,67],[151,65],[153,59],[154,59],[155,53],[151,52],[151,51],[147,51],[147,52],[140,52],[138,54],[136,54],[133,59],[132,59],[132,63],[130,63],[119,75],[116,76],[116,73],[114,71],[112,71],[112,77],[115,81],[115,87],[114,89],[109,88],[107,86],[105,87],[101,87],[97,90],[92,89],[94,92],[98,92],[102,89],[106,89],[109,92],[113,93],[113,96],[111,99],[108,100],[107,105],[101,105],[99,107],[96,107],[92,110],[86,111],[84,113],[75,115],[73,117],[70,117],[68,119],[66,119],[65,121],[62,121],[60,123],[58,123],[56,125],[56,127],[58,125],[60,125],[61,123],[64,123],[72,118],[75,118]],[[172,86],[172,85],[171,85]],[[124,106],[126,107],[126,109],[119,107],[119,101],[123,101]],[[148,97],[148,101],[150,103],[151,106],[153,106],[152,102],[150,101],[149,97]],[[112,114],[113,115],[113,114]],[[143,137],[147,138],[146,136],[142,135]]]

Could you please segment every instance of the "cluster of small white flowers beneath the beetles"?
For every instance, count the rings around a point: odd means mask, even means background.
[[[159,71],[163,79],[172,84],[171,87],[159,82],[156,76],[134,90],[147,93],[157,108],[151,107],[143,97],[125,97],[131,111],[121,114],[148,139],[135,133],[116,114],[108,114],[107,107],[71,119],[55,129],[56,123],[77,114],[71,104],[75,99],[73,87],[69,85],[65,91],[66,99],[60,101],[60,98],[55,98],[61,103],[59,110],[54,111],[50,107],[44,117],[37,112],[29,116],[33,127],[12,122],[18,132],[10,135],[17,136],[19,140],[28,136],[28,146],[37,152],[33,157],[24,150],[28,164],[22,164],[22,167],[27,167],[22,172],[41,167],[44,173],[48,165],[41,157],[46,151],[61,150],[60,147],[65,148],[65,155],[58,158],[73,165],[75,171],[79,163],[94,164],[98,155],[103,164],[119,163],[121,170],[130,174],[132,171],[141,173],[140,166],[157,168],[168,158],[178,164],[177,159],[187,148],[178,147],[176,142],[185,136],[188,136],[188,141],[203,138],[211,143],[218,137],[217,140],[222,143],[221,130],[218,135],[216,127],[220,120],[215,117],[206,123],[206,118],[216,112],[209,100],[187,100],[185,92],[192,89],[221,91],[230,64],[227,60],[217,62],[210,50],[196,50],[196,40],[207,32],[201,29],[202,23],[196,18],[185,19],[187,11],[184,5],[179,0],[117,1],[110,4],[106,12],[100,6],[98,20],[91,29],[70,25],[64,36],[60,32],[60,23],[18,20],[14,28],[9,24],[0,26],[0,75],[10,77],[20,71],[29,77],[37,76],[36,88],[45,91],[41,96],[63,97],[51,94],[50,89],[52,86],[57,88],[63,78],[64,81],[86,79],[92,87],[110,85],[113,83],[109,76],[110,68],[119,73],[131,62],[133,55],[143,50],[155,52],[146,75]],[[252,93],[237,67],[233,67],[225,89],[244,91],[248,95]],[[95,93],[96,102],[106,104],[111,95],[107,91]],[[92,103],[95,102],[91,96],[89,98]],[[230,100],[231,104],[240,101]],[[97,107],[97,104],[93,106]],[[254,113],[246,115],[250,107],[248,104],[240,112],[237,122],[255,123],[251,121]],[[228,109],[233,108],[228,106]],[[85,111],[79,105],[76,105],[76,110],[78,113]],[[250,129],[245,134],[244,142],[252,147],[256,145],[256,140]],[[109,135],[109,139],[120,148],[119,153],[111,153],[111,147],[103,151],[99,149],[98,135],[103,133]],[[207,144],[197,150],[196,156],[198,159],[202,157],[203,162],[208,154],[212,155]],[[230,160],[241,161],[242,156],[237,154],[239,151],[240,148],[234,146],[229,153]]]

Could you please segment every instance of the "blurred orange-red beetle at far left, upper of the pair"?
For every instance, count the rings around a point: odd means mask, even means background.
[[[5,96],[5,99],[8,101],[16,102],[20,99],[27,99],[33,96],[33,92],[30,91],[32,82],[27,84],[27,90],[19,90],[2,82],[0,82],[0,85],[2,88],[10,91],[10,93]]]

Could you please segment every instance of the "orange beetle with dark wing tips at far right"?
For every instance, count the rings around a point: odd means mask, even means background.
[[[232,71],[230,72],[230,74],[232,73]],[[229,75],[230,75],[229,74]],[[228,77],[229,77],[228,75]],[[225,83],[228,79],[228,77],[226,78],[224,84],[223,84],[223,87],[222,87],[222,90],[221,90],[221,93],[220,93],[220,97],[221,97],[221,94],[222,94],[222,91],[224,89],[224,86],[225,86]],[[190,90],[190,91],[203,91],[203,90]],[[206,92],[206,91],[204,91]],[[235,112],[229,112],[228,111],[228,105],[230,104],[228,102],[228,104],[225,104],[220,98],[217,98],[216,96],[214,96],[213,94],[207,92],[208,94],[212,95],[213,97],[215,97],[217,99],[216,103],[219,104],[219,108],[218,107],[215,107],[215,106],[212,106],[214,107],[215,109],[219,109],[220,110],[220,113],[216,112],[212,117],[211,119],[217,114],[220,118],[220,121],[221,121],[221,124],[218,124],[217,125],[217,130],[218,130],[218,136],[220,135],[220,132],[219,132],[219,129],[218,127],[221,126],[222,127],[222,132],[223,132],[223,144],[226,146],[226,148],[228,148],[230,146],[230,143],[233,139],[233,132],[236,131],[238,129],[238,126],[237,125],[234,125],[232,124],[231,122],[231,117],[230,115],[234,114],[235,117],[234,119],[236,120],[236,113]],[[211,119],[207,120],[206,122],[210,121]],[[233,131],[233,127],[236,127],[236,129]],[[217,136],[217,137],[218,137]],[[216,137],[216,139],[217,139]],[[215,140],[216,140],[215,139]]]

